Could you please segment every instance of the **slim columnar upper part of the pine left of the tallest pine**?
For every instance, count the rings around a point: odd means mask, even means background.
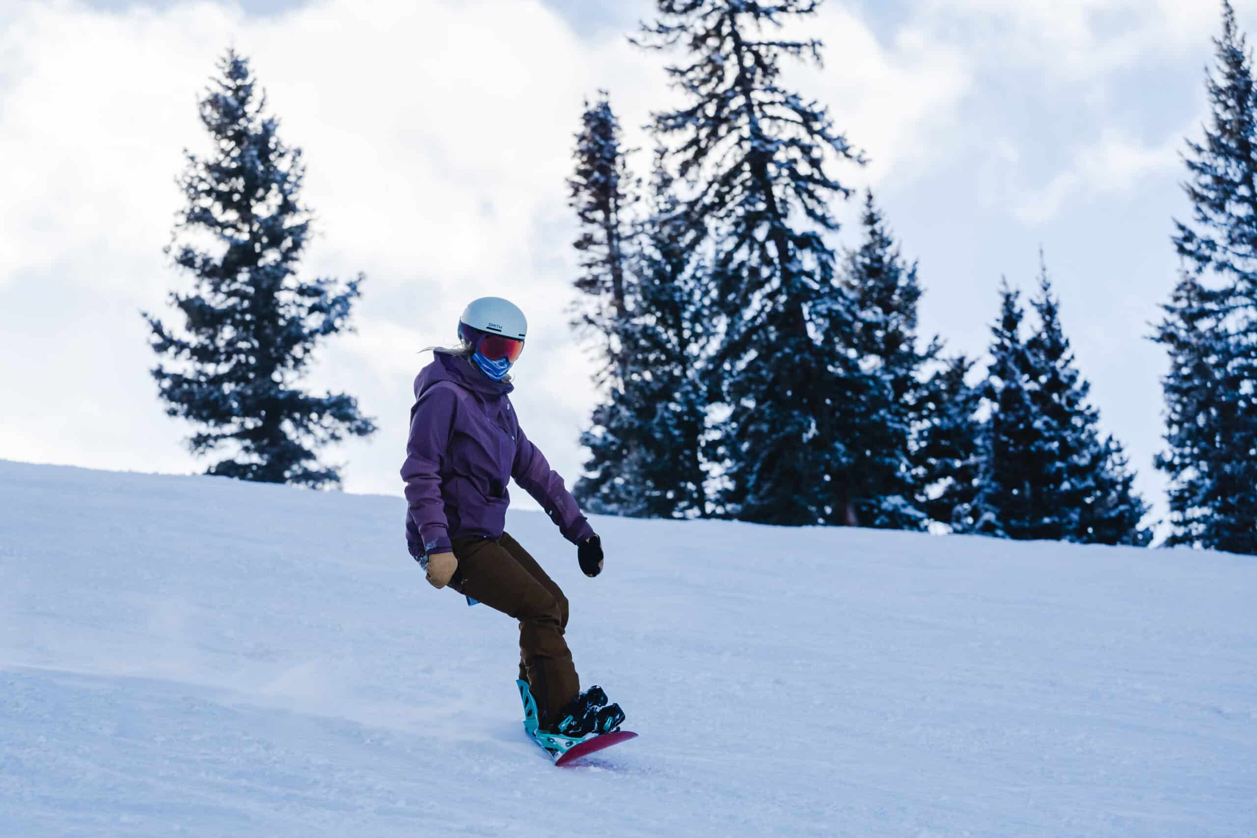
[[[635,201],[627,153],[607,92],[600,90],[597,101],[585,103],[576,134],[576,172],[568,180],[569,204],[581,221],[573,246],[581,254],[574,285],[582,298],[572,324],[603,342],[600,381],[625,374],[618,333],[628,310],[626,274],[632,236],[626,216]]]

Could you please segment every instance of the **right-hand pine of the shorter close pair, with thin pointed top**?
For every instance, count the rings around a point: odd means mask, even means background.
[[[1087,401],[1091,386],[1075,364],[1042,251],[1033,307],[1040,328],[1027,343],[1031,398],[1045,449],[1036,460],[1042,471],[1032,474],[1041,481],[1033,494],[1046,514],[1032,536],[1148,544],[1151,533],[1139,528],[1148,506],[1131,490],[1134,476],[1121,445],[1112,437],[1100,438],[1100,416]]]

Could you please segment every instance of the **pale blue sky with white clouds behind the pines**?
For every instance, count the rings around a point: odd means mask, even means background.
[[[1236,4],[1257,25],[1257,0]],[[598,88],[628,129],[670,101],[664,59],[625,33],[646,0],[0,0],[0,457],[137,471],[205,467],[156,398],[138,312],[185,281],[162,248],[196,95],[234,45],[303,146],[312,274],[368,280],[358,333],[321,356],[380,432],[331,455],[349,491],[400,490],[415,351],[483,294],[529,315],[520,418],[561,472],[595,393],[563,314],[572,132]],[[1205,113],[1213,0],[828,0],[807,28],[826,102],[920,260],[924,330],[984,351],[1001,275],[1038,248],[1106,430],[1145,496],[1164,358],[1149,323],[1174,283],[1178,152]],[[646,155],[637,163],[644,167]],[[854,230],[850,231],[854,234]],[[847,235],[846,242],[854,242]],[[783,359],[784,362],[784,359]],[[67,499],[73,504],[73,499]]]

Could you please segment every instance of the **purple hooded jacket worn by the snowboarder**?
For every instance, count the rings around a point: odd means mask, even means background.
[[[464,535],[499,538],[514,477],[574,543],[593,535],[576,500],[510,406],[510,382],[444,352],[415,378],[406,462],[406,543],[415,555],[450,550]]]

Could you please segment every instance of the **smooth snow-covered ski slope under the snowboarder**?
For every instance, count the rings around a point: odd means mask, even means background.
[[[519,513],[641,732],[561,770],[402,515],[0,462],[0,835],[1257,835],[1257,560]]]

